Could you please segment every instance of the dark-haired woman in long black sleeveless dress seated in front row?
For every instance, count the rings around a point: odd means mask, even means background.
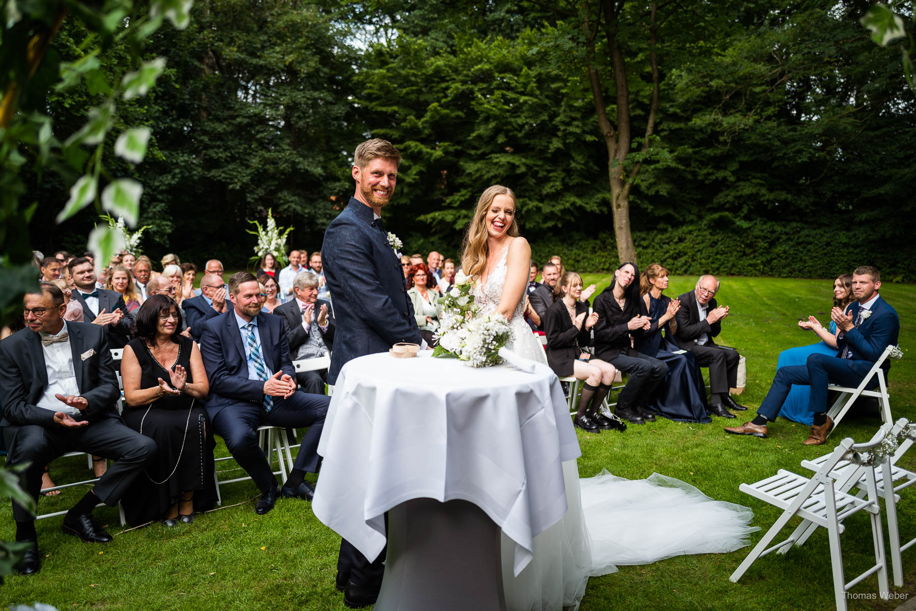
[[[136,526],[162,519],[191,524],[213,504],[213,438],[203,399],[210,392],[201,352],[180,335],[181,310],[153,295],[136,311],[135,339],[121,359],[126,407],[122,417],[151,438],[158,455],[124,496],[125,518]]]

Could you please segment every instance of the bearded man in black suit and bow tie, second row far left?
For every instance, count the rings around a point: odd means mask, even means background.
[[[76,285],[72,298],[82,306],[82,322],[101,325],[112,348],[125,347],[134,315],[127,311],[124,297],[116,290],[96,288],[95,269],[89,258],[78,256],[67,267]]]

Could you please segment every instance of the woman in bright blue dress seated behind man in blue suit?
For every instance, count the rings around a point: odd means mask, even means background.
[[[835,307],[843,308],[845,310],[846,307],[852,303],[852,283],[852,274],[843,274],[834,280]],[[797,348],[783,350],[780,353],[779,361],[776,363],[777,369],[791,365],[804,365],[808,362],[808,356],[814,354],[830,356],[836,355],[835,322],[831,321],[830,327],[828,329],[824,329],[816,318],[809,316],[807,321],[799,321],[799,326],[802,327],[802,329],[807,329],[817,333],[818,337],[821,338],[821,341],[817,344],[798,346]],[[780,416],[789,420],[794,420],[796,422],[802,422],[802,424],[807,424],[810,426],[813,420],[813,414],[808,409],[808,398],[810,397],[811,389],[809,387],[793,385],[789,391],[789,396],[786,397],[786,402],[782,404],[782,409],[780,409]]]

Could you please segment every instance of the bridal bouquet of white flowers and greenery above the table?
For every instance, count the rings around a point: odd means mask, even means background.
[[[432,352],[441,358],[458,358],[472,367],[499,365],[499,349],[509,340],[509,324],[502,314],[479,315],[471,294],[471,278],[459,271],[442,304],[439,344]]]

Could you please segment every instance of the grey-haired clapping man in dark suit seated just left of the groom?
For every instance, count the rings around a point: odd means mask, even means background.
[[[296,297],[279,306],[274,313],[283,319],[283,333],[289,342],[292,360],[331,355],[334,317],[331,304],[318,299],[318,275],[303,270],[293,279]],[[296,381],[307,393],[322,395],[328,370],[296,372]]]

